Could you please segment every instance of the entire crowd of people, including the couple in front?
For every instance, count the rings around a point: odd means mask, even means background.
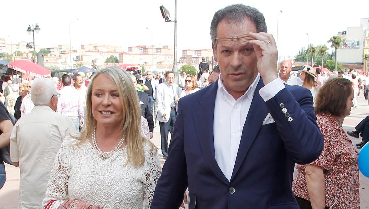
[[[87,86],[83,73],[3,78],[0,148],[10,144],[20,169],[19,208],[359,209],[358,151],[342,119],[361,90],[368,98],[369,75],[312,66],[293,75],[290,60],[278,74],[274,37],[250,6],[218,10],[210,34],[218,65],[209,73],[203,58],[178,84],[170,70],[118,67]],[[347,133],[363,134],[358,146],[368,124]]]

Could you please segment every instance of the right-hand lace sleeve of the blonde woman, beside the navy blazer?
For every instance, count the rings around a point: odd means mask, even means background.
[[[148,150],[145,159],[145,182],[144,182],[144,208],[149,209],[153,201],[157,180],[161,175],[161,164],[157,148]]]

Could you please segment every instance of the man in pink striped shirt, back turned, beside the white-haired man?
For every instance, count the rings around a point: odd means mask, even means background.
[[[77,130],[83,126],[84,107],[81,94],[72,88],[70,76],[62,76],[62,90],[59,91],[57,112],[62,113],[73,122]]]

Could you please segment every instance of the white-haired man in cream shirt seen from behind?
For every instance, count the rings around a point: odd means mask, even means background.
[[[77,133],[67,116],[55,112],[58,95],[52,79],[35,80],[31,99],[35,107],[18,120],[10,136],[11,161],[20,170],[20,209],[43,208],[55,155],[63,139]]]

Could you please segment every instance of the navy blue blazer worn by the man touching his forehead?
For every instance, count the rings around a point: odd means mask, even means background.
[[[291,189],[294,163],[310,163],[323,149],[312,96],[306,88],[286,85],[264,102],[259,95],[263,86],[260,79],[230,181],[215,160],[218,82],[179,101],[151,209],[178,209],[187,186],[190,209],[299,209]],[[275,123],[263,125],[268,112]]]

